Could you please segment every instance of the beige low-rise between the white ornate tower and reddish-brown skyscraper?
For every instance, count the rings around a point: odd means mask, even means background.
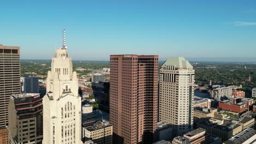
[[[112,144],[113,127],[108,122],[97,121],[93,125],[83,124],[83,141],[97,144]]]

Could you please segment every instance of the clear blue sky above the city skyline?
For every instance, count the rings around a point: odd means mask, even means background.
[[[0,44],[22,59],[50,59],[62,45],[73,59],[112,54],[256,62],[256,1],[1,1]],[[215,59],[215,60],[214,60]]]

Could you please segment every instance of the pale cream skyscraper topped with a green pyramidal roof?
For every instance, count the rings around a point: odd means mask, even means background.
[[[183,57],[171,57],[162,64],[159,83],[159,121],[173,125],[174,134],[193,128],[194,74]]]

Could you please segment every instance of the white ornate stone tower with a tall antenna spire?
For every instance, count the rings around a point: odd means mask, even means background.
[[[43,143],[82,143],[81,99],[78,95],[77,73],[72,70],[65,45],[57,49],[51,71],[46,79],[46,95],[43,98]]]

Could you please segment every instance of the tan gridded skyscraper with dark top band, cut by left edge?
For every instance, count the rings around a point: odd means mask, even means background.
[[[16,93],[20,93],[20,47],[0,45],[0,133],[7,131],[10,95]]]

